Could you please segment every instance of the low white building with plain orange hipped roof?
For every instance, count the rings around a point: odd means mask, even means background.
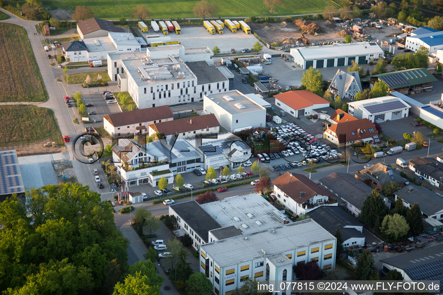
[[[312,110],[329,107],[329,101],[308,90],[291,90],[274,95],[277,107],[294,117],[312,115]]]

